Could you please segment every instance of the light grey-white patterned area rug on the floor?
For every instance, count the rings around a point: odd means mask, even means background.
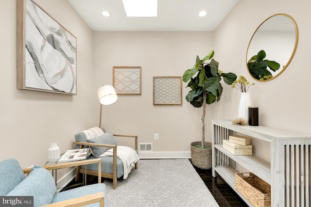
[[[219,207],[189,159],[140,159],[115,190],[104,184],[109,207]]]

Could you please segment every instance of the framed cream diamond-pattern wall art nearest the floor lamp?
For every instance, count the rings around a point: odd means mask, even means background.
[[[112,82],[118,95],[141,95],[141,67],[113,66]]]

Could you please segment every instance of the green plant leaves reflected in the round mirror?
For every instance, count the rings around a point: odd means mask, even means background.
[[[249,73],[257,80],[268,80],[273,77],[272,73],[280,68],[280,64],[275,61],[263,60],[266,57],[266,52],[260,50],[257,55],[254,55],[247,62]]]

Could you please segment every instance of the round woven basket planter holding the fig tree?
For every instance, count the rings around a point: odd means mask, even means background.
[[[202,142],[193,142],[191,146],[191,162],[194,166],[207,170],[212,167],[212,143],[205,142],[208,149],[200,149],[194,145],[201,145]]]

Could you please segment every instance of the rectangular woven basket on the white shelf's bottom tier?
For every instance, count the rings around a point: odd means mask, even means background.
[[[271,186],[253,173],[236,173],[235,188],[255,207],[271,207]]]

